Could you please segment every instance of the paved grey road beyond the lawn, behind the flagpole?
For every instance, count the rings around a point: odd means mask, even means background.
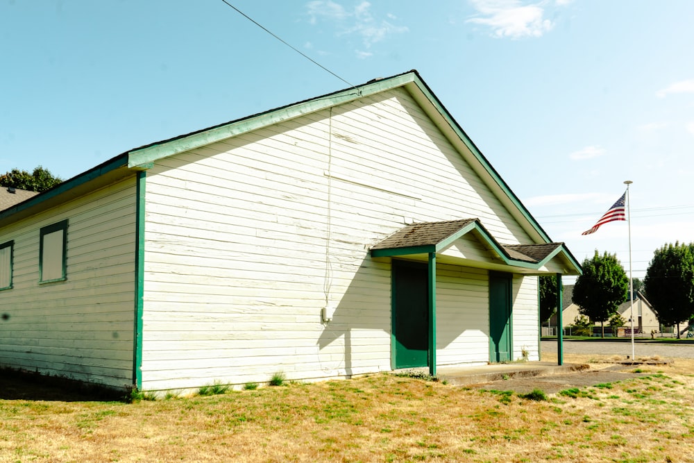
[[[556,341],[543,341],[543,352],[557,352]],[[564,341],[564,353],[575,354],[604,354],[604,355],[632,355],[631,342],[601,342],[601,341]],[[651,342],[635,342],[634,355],[638,357],[652,357],[658,355],[663,358],[694,358],[694,344],[661,344]]]

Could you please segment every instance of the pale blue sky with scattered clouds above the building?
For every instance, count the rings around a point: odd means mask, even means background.
[[[632,262],[694,240],[694,2],[0,0],[0,171],[129,149],[417,69],[554,241],[633,180]],[[346,82],[348,83],[346,83]]]

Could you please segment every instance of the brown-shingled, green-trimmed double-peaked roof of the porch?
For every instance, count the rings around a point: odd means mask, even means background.
[[[564,243],[500,244],[484,228],[480,219],[422,222],[404,226],[389,237],[371,246],[371,257],[439,253],[457,239],[471,232],[475,232],[475,237],[503,265],[520,267],[523,273],[548,273],[546,270],[542,272],[541,268],[554,258],[560,258],[564,262],[568,262],[566,267],[569,267],[569,269],[564,271],[564,273],[579,274],[581,271],[578,262],[566,249]]]

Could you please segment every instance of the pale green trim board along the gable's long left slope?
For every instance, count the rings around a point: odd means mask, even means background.
[[[231,137],[235,137],[242,133],[257,130],[272,124],[278,124],[282,121],[294,119],[312,112],[320,111],[339,104],[348,103],[364,96],[370,96],[384,90],[401,87],[406,83],[414,81],[416,74],[407,73],[392,78],[385,78],[381,81],[367,83],[359,87],[352,87],[341,92],[320,96],[319,98],[295,103],[285,108],[271,110],[260,115],[232,121],[228,124],[209,128],[205,131],[185,135],[183,137],[145,146],[144,148],[134,149],[128,153],[128,167],[137,167],[146,165],[149,162],[155,162],[168,156],[183,153],[192,149],[199,148],[211,143],[220,142]]]

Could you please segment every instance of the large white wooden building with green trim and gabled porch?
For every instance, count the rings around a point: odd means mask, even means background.
[[[581,272],[416,71],[117,155],[0,246],[0,366],[141,390],[538,360]]]

